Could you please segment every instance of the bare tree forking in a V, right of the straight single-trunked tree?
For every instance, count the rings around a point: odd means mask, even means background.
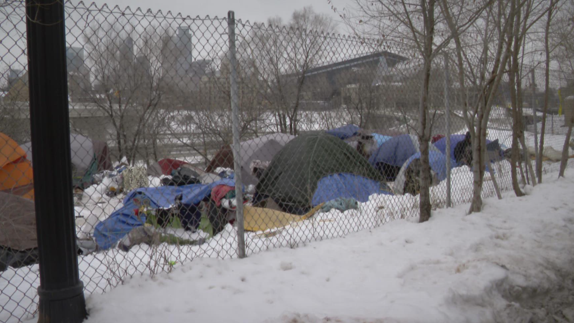
[[[472,141],[474,186],[469,212],[480,212],[488,119],[510,59],[507,36],[513,28],[517,8],[506,1],[492,2],[469,32],[460,34],[457,32],[458,17],[451,14],[452,6],[448,0],[441,0],[441,9],[454,38],[460,101]],[[479,42],[476,42],[477,37]],[[475,95],[469,95],[470,92]]]

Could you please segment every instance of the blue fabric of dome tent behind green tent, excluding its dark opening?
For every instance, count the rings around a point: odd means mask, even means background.
[[[369,158],[369,163],[375,166],[377,163],[386,163],[401,167],[410,156],[418,152],[418,143],[414,136],[401,134],[385,141]]]

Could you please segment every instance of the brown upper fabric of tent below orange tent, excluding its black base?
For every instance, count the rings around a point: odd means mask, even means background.
[[[38,247],[34,202],[0,192],[0,245],[16,250]]]

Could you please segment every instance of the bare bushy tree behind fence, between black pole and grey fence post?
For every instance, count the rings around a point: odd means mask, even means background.
[[[161,33],[153,26],[146,31],[134,41],[130,25],[121,22],[84,29],[95,83],[87,96],[110,118],[118,159],[129,163],[141,156],[138,149],[157,117],[164,89]]]

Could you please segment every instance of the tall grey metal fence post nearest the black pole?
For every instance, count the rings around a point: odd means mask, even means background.
[[[235,167],[235,201],[237,208],[235,218],[237,222],[237,254],[239,258],[245,257],[245,233],[243,229],[243,185],[241,182],[241,152],[239,151],[239,107],[237,95],[237,59],[235,57],[235,13],[227,11],[227,34],[229,36],[229,64],[231,86],[231,120],[233,130],[233,163]]]

